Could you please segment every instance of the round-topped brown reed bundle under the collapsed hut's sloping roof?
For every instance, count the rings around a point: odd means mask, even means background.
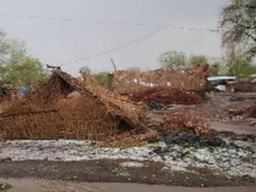
[[[79,93],[69,95],[57,105],[65,125],[65,138],[103,140],[122,131],[118,121],[112,118],[104,105],[84,98]]]

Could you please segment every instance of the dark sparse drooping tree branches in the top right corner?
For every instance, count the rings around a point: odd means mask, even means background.
[[[256,55],[256,1],[232,0],[220,15],[222,45],[244,47],[246,54]]]

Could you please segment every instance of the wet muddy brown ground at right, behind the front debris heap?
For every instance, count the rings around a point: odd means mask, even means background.
[[[208,98],[202,104],[169,105],[163,110],[148,111],[148,115],[161,121],[166,115],[172,113],[186,114],[207,121],[213,129],[218,131],[250,134],[256,133],[256,119],[246,115],[233,115],[230,111],[238,112],[251,107],[255,101],[256,93],[216,93],[213,101]]]

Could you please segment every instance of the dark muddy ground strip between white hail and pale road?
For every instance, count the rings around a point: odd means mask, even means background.
[[[0,178],[36,178],[76,182],[147,183],[185,187],[256,186],[250,177],[227,178],[213,171],[163,170],[162,163],[144,162],[141,168],[120,168],[121,160],[82,162],[23,161],[0,163]]]

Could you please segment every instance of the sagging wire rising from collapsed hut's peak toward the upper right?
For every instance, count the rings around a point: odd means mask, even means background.
[[[167,29],[168,27],[162,27],[161,29],[158,29],[158,30],[155,30],[154,32],[152,32],[151,34],[148,34],[148,35],[144,35],[143,37],[140,37],[138,38],[137,40],[133,40],[133,41],[130,41],[129,43],[126,43],[126,44],[122,44],[116,48],[113,48],[113,49],[108,49],[107,51],[103,51],[103,52],[99,52],[98,54],[93,54],[93,55],[89,55],[87,57],[84,57],[84,58],[81,58],[81,59],[74,59],[74,60],[70,60],[68,62],[65,62],[65,63],[62,63],[60,66],[63,66],[63,65],[67,65],[67,64],[71,64],[71,63],[77,63],[77,62],[82,62],[84,60],[89,60],[89,59],[93,59],[93,58],[96,58],[96,57],[100,57],[102,55],[106,55],[106,54],[109,54],[110,52],[115,52],[115,51],[119,51],[121,49],[124,49],[124,48],[127,48],[129,46],[132,46],[133,44],[135,43],[139,43],[140,41],[143,41],[143,40],[146,40],[147,38],[155,35],[155,34],[158,34],[160,33],[162,30],[164,29]]]

